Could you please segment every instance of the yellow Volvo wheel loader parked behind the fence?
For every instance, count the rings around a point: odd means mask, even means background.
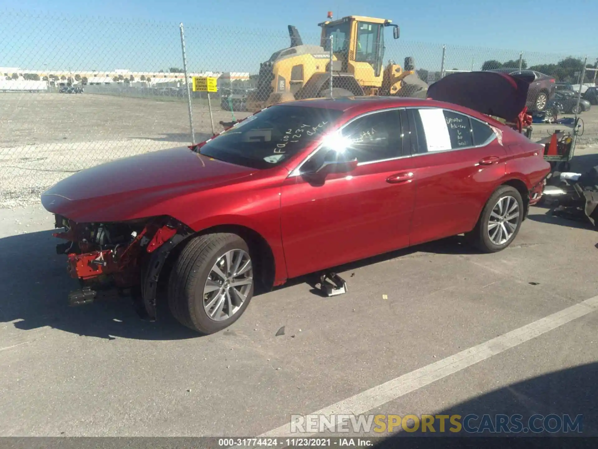
[[[387,19],[363,16],[332,20],[332,13],[328,13],[328,19],[318,24],[322,28],[319,46],[303,44],[297,29],[289,25],[291,46],[276,51],[260,64],[257,89],[246,99],[249,111],[295,99],[330,96],[425,98],[428,86],[417,77],[413,58],[405,58],[405,69],[392,61],[383,66],[384,30],[392,27],[393,37],[398,39],[398,25]]]

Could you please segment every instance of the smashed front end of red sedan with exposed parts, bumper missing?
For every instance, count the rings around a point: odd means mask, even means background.
[[[126,222],[76,223],[55,214],[56,245],[68,257],[67,270],[81,289],[69,294],[72,306],[93,302],[100,290],[129,295],[142,318],[155,320],[157,284],[170,251],[193,231],[170,217]]]

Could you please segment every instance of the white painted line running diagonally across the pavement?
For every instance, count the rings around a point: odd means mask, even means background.
[[[493,338],[485,343],[461,351],[453,356],[447,357],[431,365],[416,369],[393,380],[389,380],[377,387],[373,387],[365,392],[358,393],[350,398],[343,399],[343,401],[332,404],[328,407],[319,409],[313,414],[330,415],[330,414],[362,414],[380,405],[386,404],[393,399],[400,398],[407,395],[414,390],[425,387],[437,380],[447,377],[457,371],[475,365],[475,363],[482,360],[489,359],[496,354],[500,354],[509,348],[513,348],[526,341],[529,341],[543,333],[550,332],[563,324],[569,323],[576,318],[582,317],[589,313],[598,310],[598,296],[586,299],[579,304],[573,305],[560,312],[548,315],[533,323],[526,324],[526,326],[519,329],[511,330],[504,335]],[[289,417],[290,418],[290,417]],[[297,436],[290,432],[291,425],[272,429],[269,432],[263,433],[260,437],[292,437]],[[308,435],[301,434],[301,437]]]

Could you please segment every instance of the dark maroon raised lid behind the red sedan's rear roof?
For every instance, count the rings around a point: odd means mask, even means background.
[[[428,98],[517,122],[526,106],[527,90],[529,81],[524,78],[499,72],[462,72],[432,84]]]

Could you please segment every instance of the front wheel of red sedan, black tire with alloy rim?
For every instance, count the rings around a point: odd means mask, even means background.
[[[170,271],[168,304],[176,320],[206,335],[239,319],[254,293],[249,254],[246,242],[233,233],[191,239]]]

